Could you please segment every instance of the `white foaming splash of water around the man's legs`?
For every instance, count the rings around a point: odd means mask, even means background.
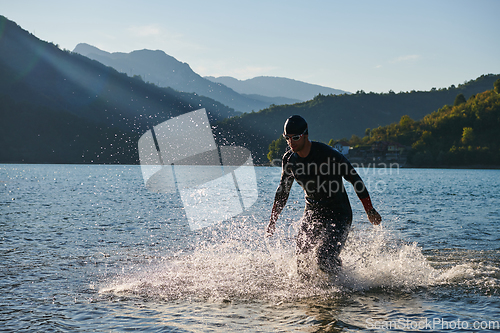
[[[301,281],[293,238],[275,235],[266,240],[261,230],[242,225],[236,229],[246,237],[201,242],[190,254],[117,276],[100,292],[166,300],[279,302],[332,298],[373,288],[411,291],[444,283],[458,274],[455,267],[433,268],[416,243],[406,244],[389,230],[368,226],[351,230],[336,278],[319,275],[317,280]]]

